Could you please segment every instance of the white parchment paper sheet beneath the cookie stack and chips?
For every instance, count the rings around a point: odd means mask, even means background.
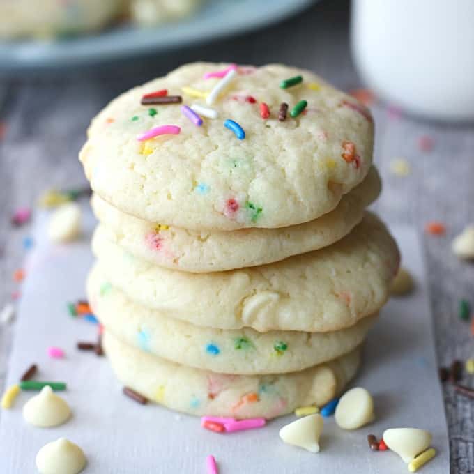
[[[389,427],[420,427],[433,434],[436,458],[426,474],[448,474],[448,434],[438,383],[431,316],[420,245],[413,229],[392,229],[402,249],[403,264],[417,280],[413,296],[393,299],[369,335],[365,365],[352,386],[374,395],[376,422],[358,431],[342,431],[325,419],[321,452],[311,454],[280,441],[280,427],[294,419],[278,418],[267,427],[236,434],[215,434],[199,426],[199,418],[178,415],[155,405],[141,406],[121,394],[105,358],[79,352],[77,341],[95,340],[96,326],[68,316],[66,302],[84,297],[84,279],[91,266],[89,236],[93,219],[87,213],[84,238],[58,247],[47,242],[45,215],[39,215],[35,247],[26,264],[26,282],[17,316],[7,384],[15,383],[36,362],[38,380],[65,381],[63,392],[74,416],[61,427],[26,425],[22,406],[33,395],[24,392],[15,407],[0,418],[0,473],[36,473],[36,452],[45,443],[66,436],[86,453],[85,474],[206,473],[213,454],[220,474],[408,472],[394,452],[371,452],[367,434],[381,436]],[[66,351],[63,360],[47,356],[48,346]],[[58,473],[61,474],[61,473]]]

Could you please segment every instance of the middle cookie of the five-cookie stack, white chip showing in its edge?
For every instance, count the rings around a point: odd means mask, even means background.
[[[228,272],[160,268],[107,240],[100,226],[92,247],[111,284],[162,316],[197,326],[260,332],[352,326],[385,303],[399,263],[395,240],[370,213],[330,247]]]

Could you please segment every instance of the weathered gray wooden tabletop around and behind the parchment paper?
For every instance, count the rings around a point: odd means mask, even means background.
[[[32,206],[45,188],[86,183],[77,152],[89,119],[107,101],[130,86],[197,60],[291,63],[350,90],[360,82],[350,59],[348,25],[348,1],[323,1],[283,24],[219,43],[59,74],[1,79],[0,119],[7,130],[0,142],[0,275],[4,282],[0,305],[17,289],[12,275],[22,265],[22,237],[28,235],[28,227],[10,226],[11,213],[17,206]],[[472,358],[474,337],[468,324],[458,319],[457,305],[460,298],[471,299],[474,305],[474,265],[452,255],[450,240],[465,224],[474,222],[474,126],[427,123],[405,115],[394,118],[384,104],[373,110],[376,163],[384,179],[376,210],[388,222],[410,223],[420,232],[440,364]],[[422,135],[434,139],[429,153],[418,147]],[[390,162],[398,157],[411,162],[410,176],[390,174]],[[422,229],[430,220],[445,222],[447,236],[424,234]],[[0,389],[13,330],[14,326],[0,326]],[[473,385],[473,377],[465,382]],[[409,390],[402,386],[400,381],[401,390]],[[454,394],[449,386],[444,395],[452,473],[474,473],[474,401]]]

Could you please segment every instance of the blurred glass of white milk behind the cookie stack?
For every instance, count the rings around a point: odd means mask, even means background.
[[[362,79],[389,102],[474,120],[474,0],[353,0],[351,47]]]

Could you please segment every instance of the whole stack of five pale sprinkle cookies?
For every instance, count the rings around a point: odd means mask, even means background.
[[[336,397],[399,263],[365,211],[372,140],[365,107],[280,65],[191,64],[105,107],[87,291],[121,383],[235,418]]]

